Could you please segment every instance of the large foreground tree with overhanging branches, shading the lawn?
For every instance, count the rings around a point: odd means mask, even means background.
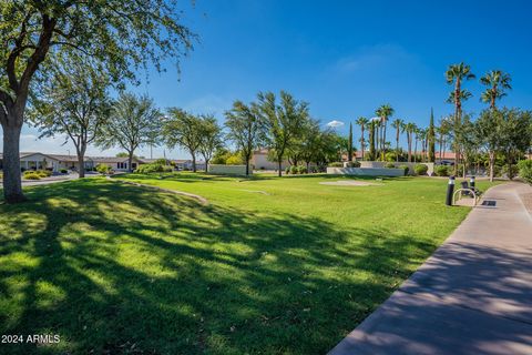
[[[0,123],[3,129],[3,193],[24,200],[20,176],[20,132],[30,89],[40,68],[57,65],[58,51],[101,61],[113,81],[135,81],[153,63],[162,70],[195,37],[180,23],[175,1],[2,1],[0,3]],[[44,70],[45,72],[45,70]]]

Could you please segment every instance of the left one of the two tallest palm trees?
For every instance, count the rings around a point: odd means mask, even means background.
[[[454,136],[458,136],[462,122],[462,101],[472,97],[469,91],[462,89],[462,83],[463,81],[472,80],[474,78],[474,74],[471,72],[471,67],[463,62],[449,65],[446,72],[447,83],[454,85],[454,90],[451,92],[451,97],[448,100],[454,104]],[[460,161],[460,146],[459,140],[457,139],[454,140],[454,152],[457,154],[454,174],[457,174],[458,163]]]

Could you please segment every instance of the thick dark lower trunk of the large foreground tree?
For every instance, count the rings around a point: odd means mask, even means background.
[[[3,128],[3,197],[7,203],[25,200],[20,175],[20,131],[22,124],[11,123],[17,118],[8,118]],[[20,120],[22,122],[22,120]]]

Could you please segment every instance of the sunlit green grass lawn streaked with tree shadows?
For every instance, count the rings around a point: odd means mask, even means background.
[[[0,204],[0,344],[12,354],[324,354],[464,219],[447,181],[130,175]],[[487,183],[480,183],[485,189]]]

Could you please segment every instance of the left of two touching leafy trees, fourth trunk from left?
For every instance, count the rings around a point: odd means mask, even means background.
[[[204,122],[178,108],[167,109],[167,118],[163,125],[163,136],[170,148],[186,149],[192,156],[192,171],[196,172],[196,155],[204,134]]]

